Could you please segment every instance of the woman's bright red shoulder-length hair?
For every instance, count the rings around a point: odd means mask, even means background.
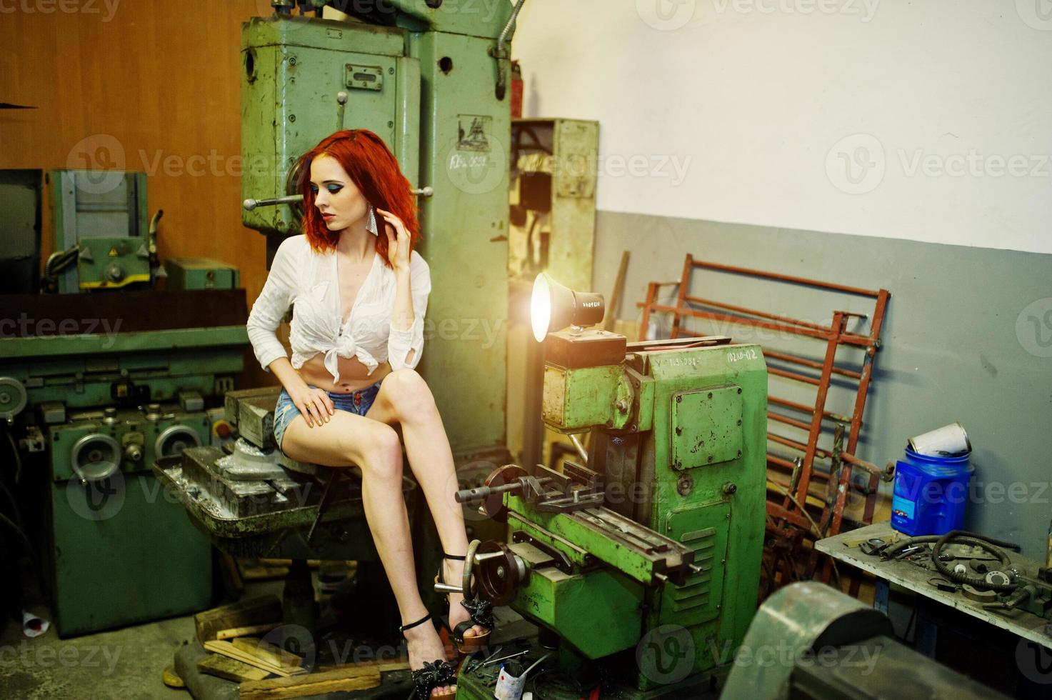
[[[409,232],[409,251],[420,241],[420,222],[417,220],[417,198],[410,192],[409,180],[402,175],[398,159],[383,139],[366,128],[349,128],[322,139],[307,153],[300,156],[290,172],[292,184],[303,195],[303,233],[316,253],[335,251],[338,232],[329,231],[315,206],[315,193],[310,188],[310,164],[321,155],[339,161],[350,176],[365,200],[375,207],[386,209],[402,219]],[[384,220],[377,215],[377,225]],[[377,252],[384,264],[387,259],[387,237],[381,229],[377,236]]]

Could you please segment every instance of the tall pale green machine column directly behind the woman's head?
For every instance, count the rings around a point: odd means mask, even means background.
[[[431,269],[420,369],[441,382],[436,399],[458,464],[500,464],[512,5],[329,4],[357,13],[353,21],[279,13],[242,29],[242,220],[267,236],[269,259],[300,233],[297,193],[286,189],[296,159],[340,128],[380,135],[420,196]]]

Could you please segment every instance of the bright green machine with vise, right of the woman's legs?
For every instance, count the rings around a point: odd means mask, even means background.
[[[553,305],[569,293],[553,289]],[[596,303],[573,296],[579,308]],[[725,337],[626,344],[580,327],[548,334],[545,351],[544,421],[590,432],[586,465],[505,466],[458,495],[509,528],[507,541],[472,546],[465,595],[510,603],[559,647],[534,697],[699,687],[729,662],[710,651],[736,647],[756,606],[763,355]],[[462,674],[458,697],[492,697],[495,682],[495,671]]]

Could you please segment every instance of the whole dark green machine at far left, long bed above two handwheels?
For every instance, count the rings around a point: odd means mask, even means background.
[[[33,513],[59,634],[206,607],[210,547],[150,465],[213,440],[208,409],[243,368],[244,291],[2,302],[18,309],[0,338],[0,418],[22,464],[9,487],[47,504]]]

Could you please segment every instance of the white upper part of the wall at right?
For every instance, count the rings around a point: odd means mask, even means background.
[[[526,0],[599,208],[1052,253],[1052,0]]]

